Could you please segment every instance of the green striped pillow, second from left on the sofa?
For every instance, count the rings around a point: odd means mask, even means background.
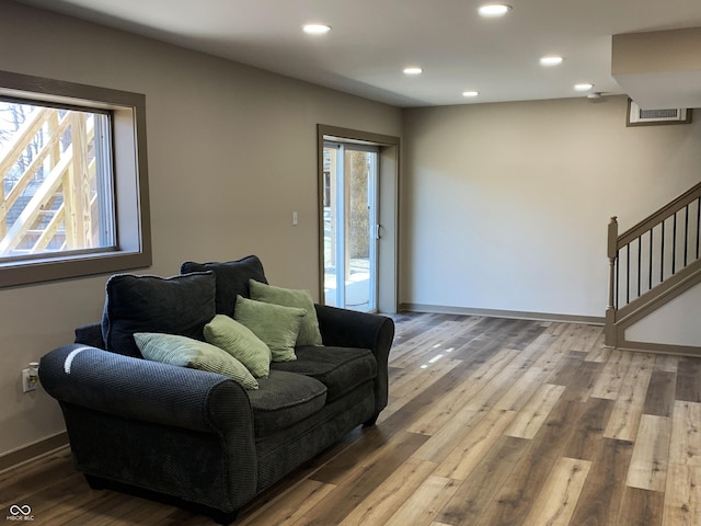
[[[271,350],[251,329],[225,315],[205,325],[205,340],[237,358],[256,378],[271,373]]]

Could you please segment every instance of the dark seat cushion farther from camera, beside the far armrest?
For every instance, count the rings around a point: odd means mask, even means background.
[[[271,373],[286,370],[315,378],[326,386],[327,402],[377,376],[375,355],[367,348],[307,345],[297,347],[295,354],[295,362],[271,364]]]

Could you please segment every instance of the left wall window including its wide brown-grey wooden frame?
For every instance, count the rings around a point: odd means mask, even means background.
[[[151,264],[145,96],[0,72],[0,286]]]

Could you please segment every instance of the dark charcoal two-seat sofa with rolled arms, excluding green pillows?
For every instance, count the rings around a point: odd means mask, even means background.
[[[314,306],[323,346],[271,364],[257,390],[220,374],[143,359],[143,330],[202,340],[215,313],[233,315],[256,256],[185,263],[172,278],[107,283],[102,323],[45,355],[39,377],[60,404],[76,468],[93,488],[171,502],[220,524],[388,401],[390,318]]]

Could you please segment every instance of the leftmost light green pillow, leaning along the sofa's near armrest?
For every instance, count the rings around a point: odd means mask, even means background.
[[[241,362],[209,343],[156,332],[137,332],[134,340],[146,359],[218,373],[245,389],[258,388],[258,382]]]

